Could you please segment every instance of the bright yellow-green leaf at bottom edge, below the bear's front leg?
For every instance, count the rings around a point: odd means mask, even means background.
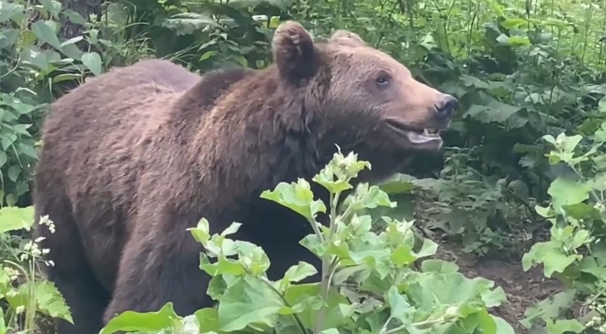
[[[119,331],[125,332],[158,332],[170,329],[173,321],[181,319],[175,313],[173,303],[168,302],[156,312],[125,311],[112,318],[99,334],[111,334]]]

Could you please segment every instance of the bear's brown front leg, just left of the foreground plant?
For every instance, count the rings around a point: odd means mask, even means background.
[[[158,221],[137,224],[124,247],[104,324],[126,310],[157,311],[169,301],[181,316],[213,305],[210,276],[199,269],[202,247],[177,221],[164,231]]]

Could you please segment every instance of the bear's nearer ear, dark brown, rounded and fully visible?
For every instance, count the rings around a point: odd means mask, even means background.
[[[288,80],[307,79],[318,67],[318,51],[301,24],[286,21],[273,36],[273,58],[280,75]]]

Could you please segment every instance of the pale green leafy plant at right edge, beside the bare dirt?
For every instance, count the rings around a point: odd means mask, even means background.
[[[606,243],[604,223],[604,160],[602,146],[606,142],[606,123],[583,144],[581,135],[557,137],[545,135],[553,146],[547,154],[551,165],[563,165],[562,173],[548,189],[551,200],[547,206],[536,206],[536,211],[551,223],[551,238],[534,244],[522,258],[524,270],[542,264],[545,277],[557,277],[567,290],[559,298],[545,300],[538,307],[549,307],[553,312],[527,312],[525,324],[533,320],[547,323],[549,333],[561,333],[563,321],[573,332],[585,327],[601,329],[606,301]],[[579,151],[583,149],[584,153]],[[565,296],[565,297],[564,297]],[[578,302],[581,308],[576,319],[562,319],[570,307]]]

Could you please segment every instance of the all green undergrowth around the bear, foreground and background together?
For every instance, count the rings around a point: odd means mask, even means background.
[[[335,270],[322,282],[297,283],[315,270],[305,263],[267,280],[262,249],[229,240],[237,223],[202,219],[191,237],[229,246],[201,266],[218,306],[125,312],[102,333],[606,333],[606,0],[0,0],[0,334],[71,321],[40,274],[52,249],[31,238],[48,104],[149,57],[201,74],[267,67],[287,19],[316,38],[355,31],[457,97],[444,149],[358,186],[344,208],[323,204],[334,227],[312,224],[302,241]],[[327,175],[345,185],[364,168],[336,154],[313,180],[262,196],[313,221],[308,184],[338,197]]]

